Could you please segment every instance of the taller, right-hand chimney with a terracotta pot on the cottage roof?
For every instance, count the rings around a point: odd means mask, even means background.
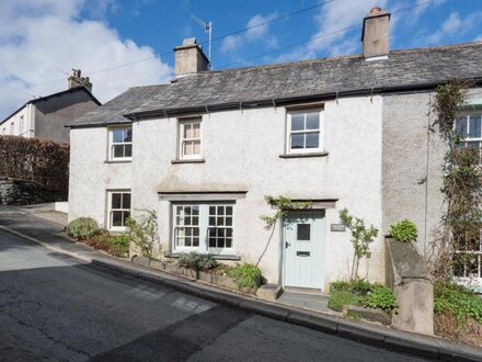
[[[364,19],[363,52],[367,60],[385,59],[389,54],[390,13],[376,7]]]

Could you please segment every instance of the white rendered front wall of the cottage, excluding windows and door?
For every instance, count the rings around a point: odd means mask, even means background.
[[[69,219],[92,216],[106,220],[106,190],[130,189],[133,208],[158,211],[163,251],[171,249],[171,208],[159,201],[159,191],[248,191],[236,201],[234,249],[242,262],[255,263],[271,231],[260,219],[273,214],[264,195],[290,199],[337,199],[326,210],[324,289],[346,278],[353,248],[349,231],[330,231],[340,223],[338,211],[351,213],[381,228],[381,97],[340,99],[324,104],[323,149],[325,157],[280,158],[285,154],[284,108],[266,108],[204,114],[202,149],[204,163],[171,163],[177,155],[177,120],[160,118],[133,124],[133,161],[106,163],[107,131],[74,128],[70,134],[71,173]],[[280,282],[279,228],[260,267],[268,282]],[[385,278],[383,241],[371,247],[360,275]]]

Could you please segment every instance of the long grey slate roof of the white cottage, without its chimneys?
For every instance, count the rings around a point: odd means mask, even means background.
[[[452,78],[482,79],[482,43],[392,50],[366,61],[362,55],[202,71],[171,83],[130,88],[71,126],[279,103],[338,93],[434,87]]]

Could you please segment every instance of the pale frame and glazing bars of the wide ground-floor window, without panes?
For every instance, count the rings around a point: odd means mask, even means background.
[[[193,207],[193,206],[197,206],[198,207],[198,224],[197,224],[197,228],[198,228],[198,238],[199,238],[199,244],[196,247],[186,247],[186,246],[179,246],[177,245],[177,233],[180,230],[180,228],[183,227],[192,227],[192,226],[186,226],[186,225],[181,225],[183,223],[177,223],[177,207],[184,207],[184,206],[188,206],[188,207]],[[228,215],[227,217],[231,218],[231,225],[230,226],[210,226],[209,225],[209,207],[218,207],[218,206],[230,206],[232,207],[232,213],[231,215]],[[226,211],[226,208],[225,208]],[[196,251],[199,253],[210,253],[210,254],[216,254],[216,256],[233,256],[236,254],[236,238],[234,238],[234,213],[236,213],[236,204],[233,202],[173,202],[172,203],[172,223],[171,223],[171,247],[172,247],[172,251],[174,253],[181,253],[181,252],[191,252],[191,251]],[[223,248],[213,248],[209,247],[209,230],[213,228],[219,228],[219,229],[231,229],[231,246],[228,247],[223,247]],[[225,233],[228,233],[227,230]]]

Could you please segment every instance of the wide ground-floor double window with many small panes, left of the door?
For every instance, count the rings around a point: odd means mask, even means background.
[[[233,208],[233,204],[173,205],[174,251],[232,253]]]

